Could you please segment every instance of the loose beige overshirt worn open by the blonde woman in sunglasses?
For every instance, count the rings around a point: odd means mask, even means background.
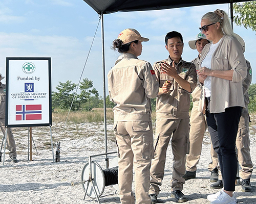
[[[212,43],[212,42],[211,42]],[[211,43],[204,46],[199,61],[202,61],[209,52]],[[211,78],[210,113],[222,113],[226,108],[240,106],[245,107],[242,80],[246,77],[247,66],[241,48],[236,38],[224,35],[211,59],[212,70],[233,70],[232,81],[217,77]],[[201,112],[204,111],[204,89],[200,98]]]

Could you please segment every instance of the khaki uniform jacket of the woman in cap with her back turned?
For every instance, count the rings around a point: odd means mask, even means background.
[[[151,100],[159,84],[149,62],[125,53],[108,73],[110,99],[115,121],[151,121]]]

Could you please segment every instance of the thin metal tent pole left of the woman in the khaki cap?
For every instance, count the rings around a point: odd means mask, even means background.
[[[104,109],[104,136],[105,136],[105,153],[108,152],[108,142],[106,135],[106,88],[105,88],[105,53],[104,53],[104,23],[103,12],[100,13],[101,18],[101,41],[102,41],[102,70],[103,70],[103,109]],[[106,168],[109,167],[108,156],[105,155]]]

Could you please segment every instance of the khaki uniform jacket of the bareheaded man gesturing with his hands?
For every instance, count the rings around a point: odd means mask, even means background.
[[[166,80],[170,81],[170,90],[167,94],[161,94],[157,97],[156,118],[157,119],[186,119],[189,118],[190,94],[169,75],[161,71],[160,66],[163,62],[172,64],[173,61],[168,59],[156,62],[153,66],[159,86],[162,87]],[[193,91],[197,85],[196,67],[191,62],[180,59],[176,65],[180,77],[186,80]]]

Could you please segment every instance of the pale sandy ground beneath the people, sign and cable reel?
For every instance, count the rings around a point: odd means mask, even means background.
[[[71,182],[80,182],[82,169],[88,162],[88,156],[104,153],[104,125],[103,123],[69,124],[64,134],[62,123],[54,124],[52,127],[54,145],[60,141],[60,162],[53,163],[50,129],[49,127],[33,127],[32,161],[28,160],[28,130],[26,128],[13,129],[17,145],[18,163],[10,162],[9,152],[5,157],[5,165],[0,164],[0,203],[97,203],[97,200],[86,196],[83,200],[84,190],[82,185],[72,187]],[[112,124],[108,124],[108,152],[116,151],[116,145],[112,132]],[[170,144],[169,144],[170,145]],[[172,177],[173,155],[168,148],[165,166],[165,177],[159,200],[161,203],[175,203],[170,197],[170,179]],[[202,156],[197,170],[197,178],[186,181],[183,193],[187,195],[186,203],[209,203],[206,199],[208,194],[218,192],[210,189],[207,165],[210,162],[210,141],[205,134],[202,148]],[[250,129],[250,149],[254,170],[251,177],[253,193],[244,193],[241,186],[236,186],[238,203],[256,203],[256,137]],[[54,148],[54,156],[55,156]],[[109,155],[110,161],[116,154]],[[3,156],[2,156],[3,159]],[[105,169],[104,156],[93,159]],[[84,185],[85,186],[85,185]],[[106,186],[101,203],[120,203],[118,192]],[[107,195],[104,196],[103,195]]]

